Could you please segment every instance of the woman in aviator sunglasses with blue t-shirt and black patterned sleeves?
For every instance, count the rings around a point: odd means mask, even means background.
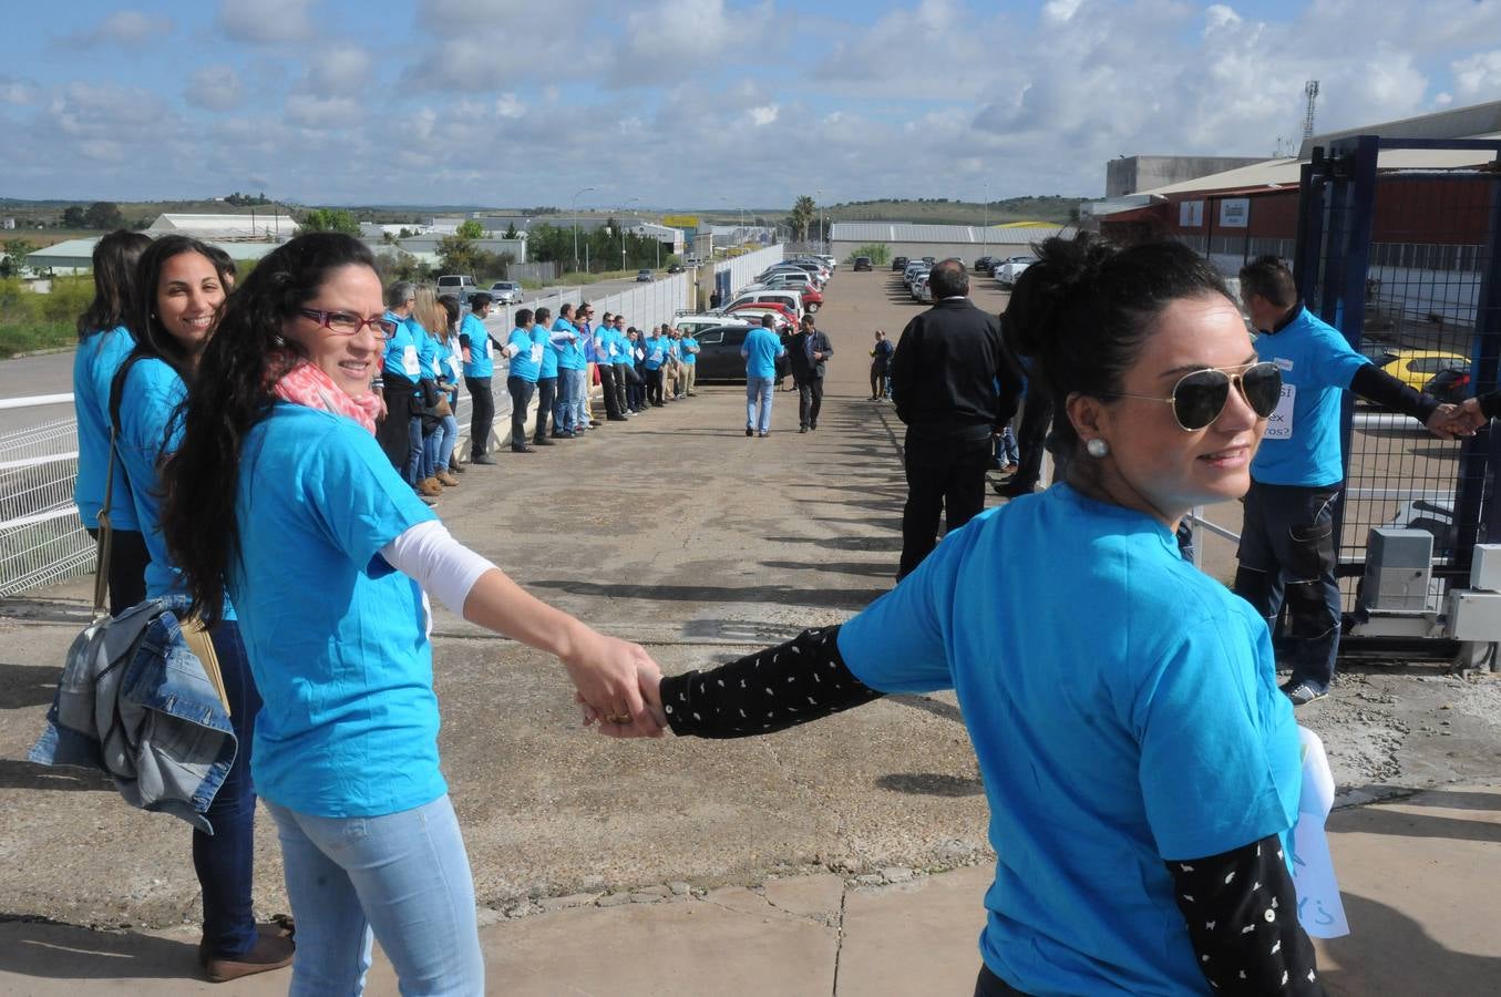
[[[842,626],[648,698],[677,734],[746,737],[955,689],[998,856],[977,994],[1322,992],[1267,626],[1174,542],[1195,505],[1244,494],[1277,368],[1180,243],[1049,239],[1006,321],[1063,401],[1061,480],[950,533]]]

